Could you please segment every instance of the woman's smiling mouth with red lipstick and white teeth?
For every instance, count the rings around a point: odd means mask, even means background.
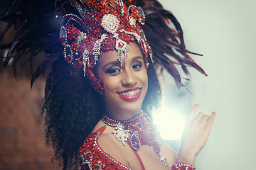
[[[135,101],[142,94],[142,88],[128,89],[125,91],[120,91],[117,93],[119,98],[122,98],[124,101]]]

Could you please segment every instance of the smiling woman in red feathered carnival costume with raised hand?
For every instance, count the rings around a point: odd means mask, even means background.
[[[181,27],[169,11],[157,1],[16,3],[2,16],[18,29],[6,45],[4,66],[27,52],[31,59],[41,50],[48,54],[31,84],[51,67],[43,111],[53,162],[63,169],[80,163],[82,169],[195,169],[215,112],[194,118],[199,104],[192,108],[178,154],[150,118],[161,99],[156,69],[167,69],[178,87],[174,64],[186,74],[187,66],[205,74],[188,56]]]

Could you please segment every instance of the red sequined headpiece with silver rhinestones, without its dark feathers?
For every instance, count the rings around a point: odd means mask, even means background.
[[[152,60],[142,26],[145,23],[141,7],[122,0],[56,0],[56,9],[62,15],[60,42],[64,57],[84,76],[97,63],[100,52],[117,50],[117,60],[126,63],[129,42],[137,43],[144,53],[144,62]],[[127,7],[128,6],[128,7]],[[72,11],[73,10],[73,11]],[[124,63],[123,63],[124,62]],[[152,60],[153,62],[153,60]]]

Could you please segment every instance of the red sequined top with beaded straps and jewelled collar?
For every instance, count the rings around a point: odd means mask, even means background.
[[[98,139],[102,132],[106,129],[106,125],[110,125],[115,128],[113,135],[123,131],[129,132],[129,137],[125,137],[125,135],[118,135],[115,137],[117,140],[120,139],[119,141],[121,141],[121,138],[127,141],[128,145],[137,155],[139,162],[142,165],[142,169],[144,169],[144,165],[137,154],[137,150],[139,150],[142,145],[152,146],[156,154],[158,154],[160,157],[160,145],[158,142],[156,142],[156,128],[145,113],[136,115],[134,118],[126,121],[112,120],[107,118],[107,116],[103,116],[102,120],[105,122],[105,125],[96,132],[92,132],[90,135],[88,135],[84,144],[82,147],[80,147],[82,169],[129,169],[129,167],[118,162],[109,154],[104,152],[104,150],[98,144]],[[120,124],[122,125],[121,127],[119,126]],[[166,159],[162,160],[162,162],[166,163]],[[167,163],[166,166],[168,166]]]

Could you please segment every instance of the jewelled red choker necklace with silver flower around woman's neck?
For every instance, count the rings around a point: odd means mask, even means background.
[[[155,152],[159,154],[160,146],[156,142],[156,128],[145,113],[135,115],[129,120],[114,120],[103,115],[102,120],[105,125],[114,128],[112,133],[118,141],[122,142],[122,145],[125,146],[127,142],[134,151],[138,151],[142,145],[153,145]]]

